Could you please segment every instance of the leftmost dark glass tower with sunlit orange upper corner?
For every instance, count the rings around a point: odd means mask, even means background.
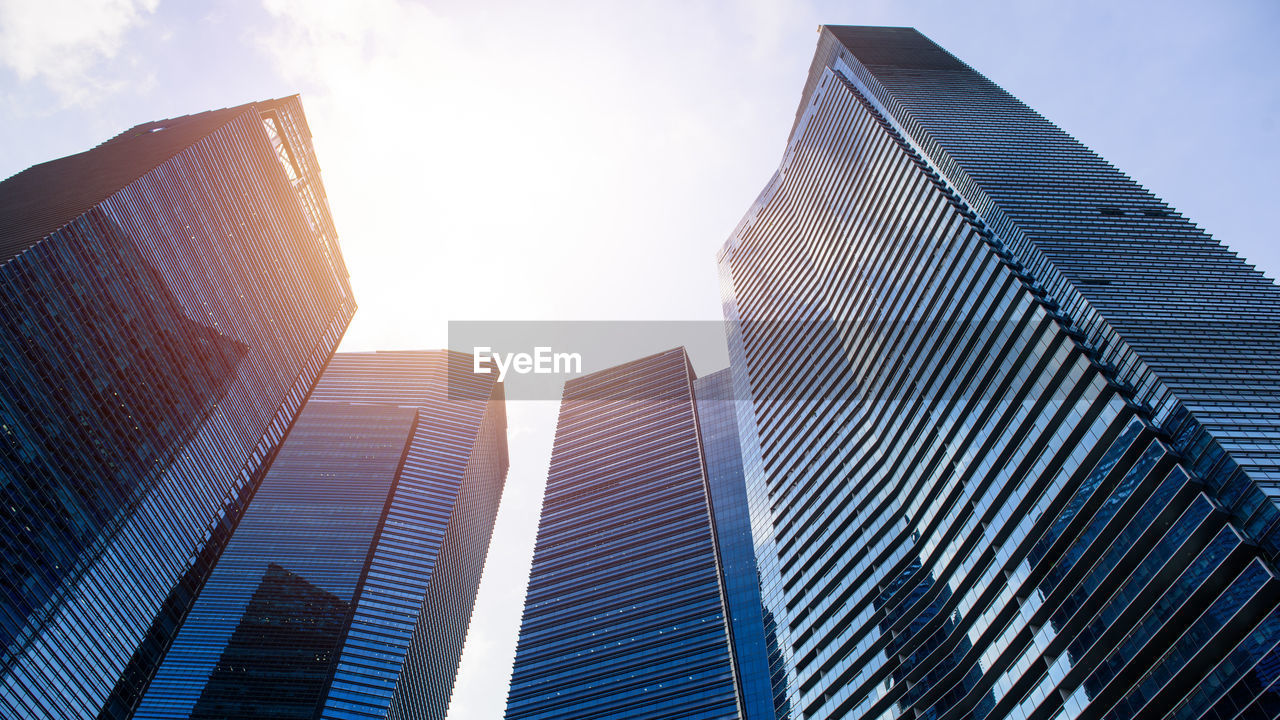
[[[0,715],[128,712],[355,307],[297,97],[0,183]]]

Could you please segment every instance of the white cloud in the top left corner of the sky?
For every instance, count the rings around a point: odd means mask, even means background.
[[[0,0],[0,64],[44,83],[63,105],[119,83],[97,72],[159,0]]]

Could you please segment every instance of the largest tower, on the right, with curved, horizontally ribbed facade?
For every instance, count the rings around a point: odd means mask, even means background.
[[[795,717],[1280,712],[1280,290],[906,28],[721,252]]]

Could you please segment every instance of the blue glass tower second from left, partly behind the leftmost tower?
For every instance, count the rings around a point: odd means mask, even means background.
[[[134,717],[443,719],[507,475],[495,378],[334,355]]]

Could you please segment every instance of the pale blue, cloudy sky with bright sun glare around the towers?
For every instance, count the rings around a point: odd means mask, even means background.
[[[449,320],[716,320],[716,250],[822,23],[916,27],[1280,270],[1267,0],[0,0],[0,177],[300,92],[360,304],[342,350],[443,347]],[[556,405],[508,415],[451,720],[504,707]]]

